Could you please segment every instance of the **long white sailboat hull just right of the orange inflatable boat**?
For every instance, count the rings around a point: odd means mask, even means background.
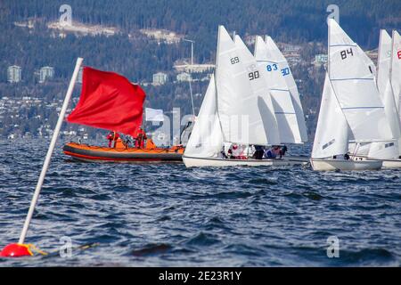
[[[303,157],[285,157],[282,159],[220,159],[220,158],[195,158],[183,156],[185,167],[291,167],[305,165],[308,159]]]

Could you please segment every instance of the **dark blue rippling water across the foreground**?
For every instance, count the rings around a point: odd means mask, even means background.
[[[1,248],[18,240],[47,143],[0,141]],[[0,266],[399,266],[400,175],[79,163],[60,143],[26,241],[97,245]]]

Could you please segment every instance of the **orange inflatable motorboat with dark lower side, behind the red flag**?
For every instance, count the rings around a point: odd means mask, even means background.
[[[158,148],[151,140],[144,148],[127,147],[120,140],[113,148],[68,142],[62,150],[73,159],[95,162],[179,162],[184,153],[181,145]]]

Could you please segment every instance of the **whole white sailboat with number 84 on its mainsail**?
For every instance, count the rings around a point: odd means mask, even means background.
[[[347,158],[348,143],[393,141],[372,67],[362,49],[328,20],[328,66],[311,165],[314,170],[375,170],[381,160]]]

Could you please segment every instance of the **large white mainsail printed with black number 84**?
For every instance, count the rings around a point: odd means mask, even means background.
[[[332,19],[328,73],[334,94],[356,142],[389,141],[393,134],[365,54]]]

